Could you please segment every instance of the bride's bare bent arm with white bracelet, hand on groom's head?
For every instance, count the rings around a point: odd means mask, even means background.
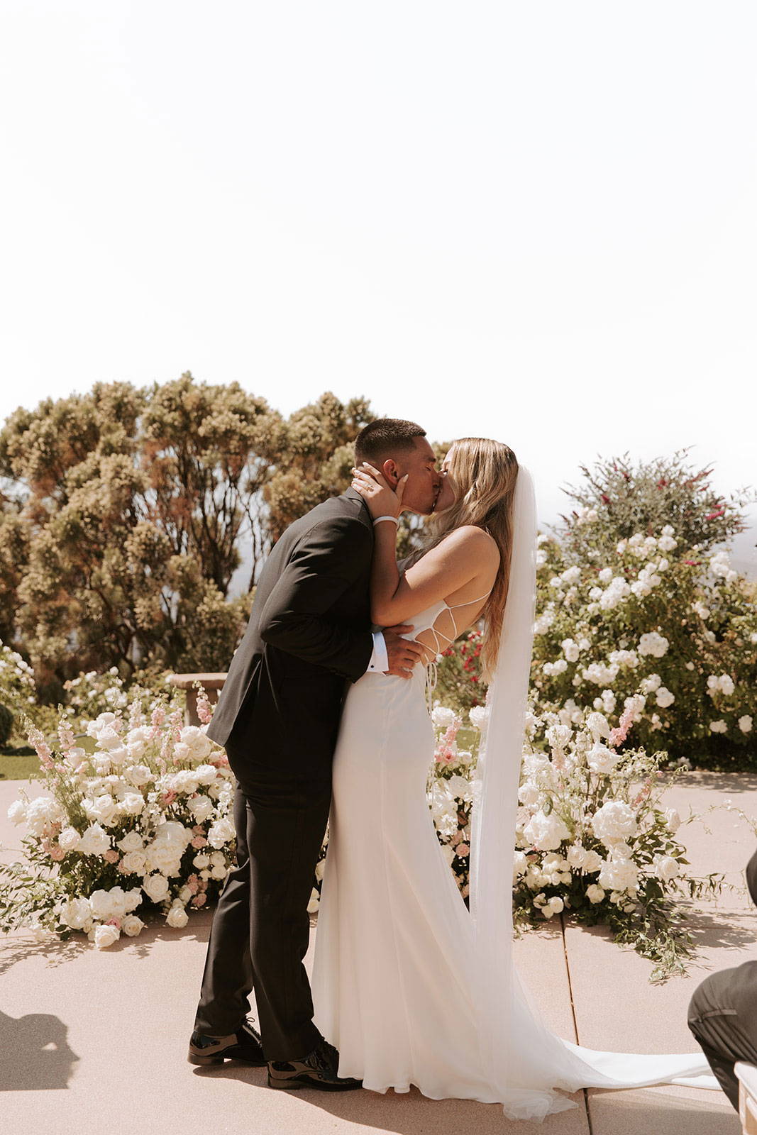
[[[394,493],[384,477],[355,473],[353,487],[368,504],[373,519],[399,516],[404,484]],[[452,531],[404,575],[397,568],[397,528],[390,520],[376,524],[371,566],[371,619],[380,627],[407,622],[420,611],[477,578],[489,581],[499,563],[499,549],[480,528],[465,524]]]

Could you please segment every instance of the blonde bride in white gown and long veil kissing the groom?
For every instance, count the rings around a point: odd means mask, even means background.
[[[462,438],[443,466],[435,533],[403,573],[404,480],[362,465],[375,527],[371,611],[405,623],[428,670],[368,673],[347,693],[334,756],[329,844],[313,962],[316,1024],[339,1075],[377,1092],[498,1102],[513,1119],[577,1107],[581,1087],[717,1088],[701,1052],[598,1052],[552,1033],[512,957],[512,861],[535,602],[533,485],[512,449]],[[490,680],[471,823],[470,911],[426,797],[437,656],[483,620]]]

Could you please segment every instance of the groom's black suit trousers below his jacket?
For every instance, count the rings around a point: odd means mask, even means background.
[[[236,771],[243,764],[235,757]],[[320,1040],[303,958],[330,799],[330,770],[328,780],[285,779],[275,770],[237,776],[236,866],[213,916],[195,1028],[235,1033],[254,990],[267,1060],[306,1056]]]

